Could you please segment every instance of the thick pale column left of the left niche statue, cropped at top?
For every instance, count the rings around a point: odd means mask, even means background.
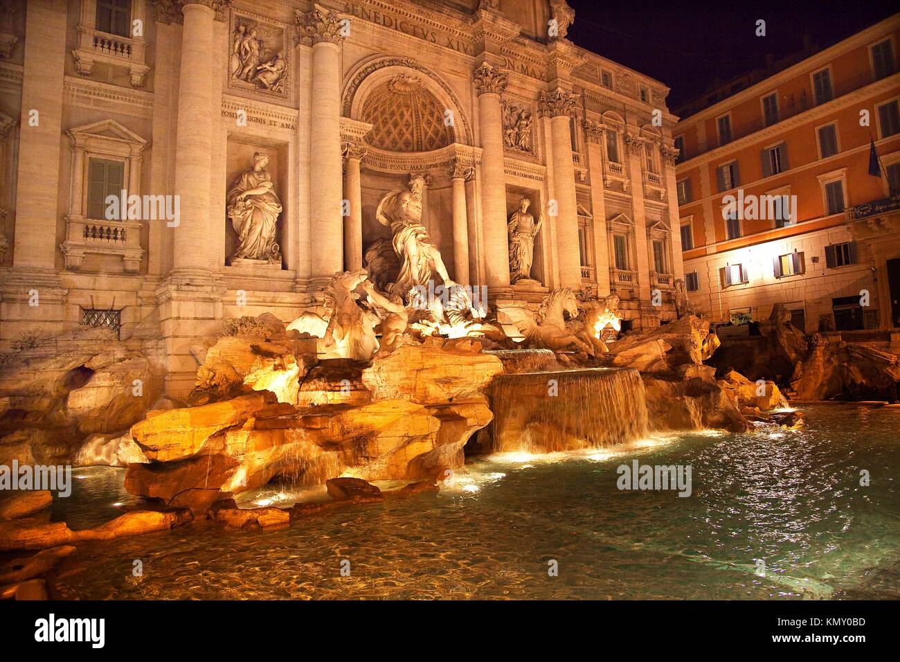
[[[185,0],[181,33],[181,72],[178,78],[175,195],[181,205],[174,231],[172,275],[210,277],[210,180],[213,113],[210,81],[216,75],[211,57],[216,12],[229,3]]]

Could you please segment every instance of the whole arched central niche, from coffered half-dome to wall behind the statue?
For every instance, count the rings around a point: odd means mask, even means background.
[[[448,170],[457,159],[464,165],[475,163],[471,125],[453,89],[415,60],[380,57],[351,71],[341,111],[351,120],[372,125],[361,139],[367,148],[360,168],[364,254],[376,240],[391,237],[390,229],[375,220],[379,200],[408,186],[410,173],[415,172],[428,181],[423,223],[453,276],[453,191]]]

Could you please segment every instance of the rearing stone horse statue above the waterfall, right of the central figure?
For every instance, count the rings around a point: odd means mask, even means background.
[[[503,306],[498,308],[497,320],[508,330],[508,336],[509,327],[518,330],[518,338],[527,347],[554,351],[575,350],[594,356],[592,345],[566,328],[563,313],[569,313],[571,320],[578,316],[578,301],[569,287],[546,295],[537,314],[527,308]],[[514,337],[513,340],[518,339]]]

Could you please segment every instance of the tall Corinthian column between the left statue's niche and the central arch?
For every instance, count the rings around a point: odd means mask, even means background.
[[[331,277],[344,268],[341,223],[340,41],[343,19],[337,12],[315,5],[297,11],[297,30],[312,47],[310,90],[310,231],[313,239],[312,277]],[[360,248],[362,251],[362,248]]]

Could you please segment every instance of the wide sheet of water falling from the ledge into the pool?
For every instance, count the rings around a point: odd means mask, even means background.
[[[633,368],[499,375],[491,410],[495,453],[599,448],[647,435],[644,382]]]

